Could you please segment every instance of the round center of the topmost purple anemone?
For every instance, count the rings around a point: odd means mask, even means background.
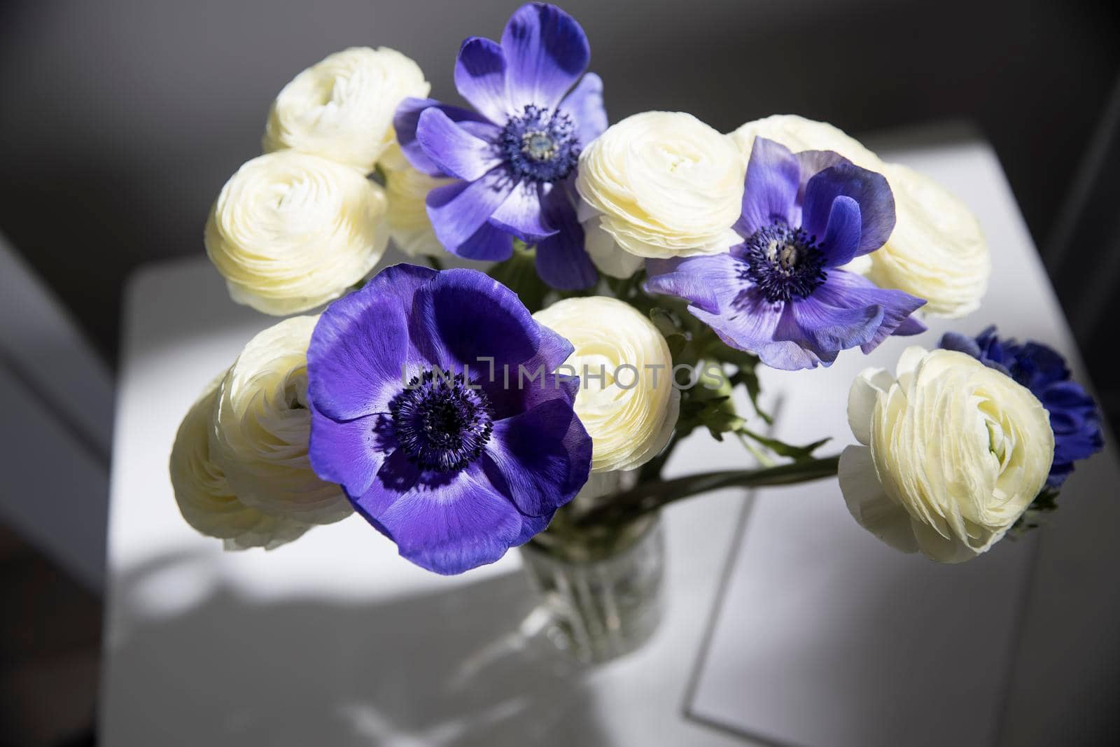
[[[563,179],[579,159],[571,118],[533,104],[506,122],[501,144],[510,167],[533,181]]]

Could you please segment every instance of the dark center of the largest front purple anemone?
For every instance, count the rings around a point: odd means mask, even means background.
[[[486,394],[448,371],[413,376],[389,413],[409,461],[437,471],[456,471],[478,458],[494,428]]]

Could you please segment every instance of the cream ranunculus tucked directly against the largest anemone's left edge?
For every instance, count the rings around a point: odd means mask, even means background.
[[[211,458],[246,506],[308,524],[352,512],[342,488],[311,469],[307,346],[318,317],[292,317],[245,345],[217,392]]]

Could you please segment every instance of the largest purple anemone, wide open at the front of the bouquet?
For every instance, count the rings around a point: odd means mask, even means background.
[[[494,562],[587,482],[571,352],[482,272],[388,268],[315,327],[311,466],[418,566]]]

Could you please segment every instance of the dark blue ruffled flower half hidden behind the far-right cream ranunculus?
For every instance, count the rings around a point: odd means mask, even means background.
[[[1104,448],[1101,412],[1084,387],[1070,377],[1065,358],[1042,343],[1000,339],[996,327],[977,337],[945,333],[941,347],[959,351],[1000,371],[1030,390],[1049,413],[1054,431],[1054,463],[1046,487],[1056,491],[1073,471],[1073,464]]]

